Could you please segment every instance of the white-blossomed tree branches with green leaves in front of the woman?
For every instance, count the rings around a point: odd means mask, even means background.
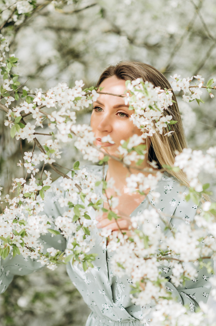
[[[11,15],[6,20],[8,24],[10,21],[21,23],[26,14],[38,8],[35,1],[25,0],[7,6],[3,10],[11,10]],[[26,86],[20,84],[19,75],[13,72],[18,58],[14,54],[8,54],[7,37],[1,35],[0,46],[3,78],[0,108],[5,112],[5,126],[10,128],[12,138],[18,141],[27,140],[32,144],[32,150],[25,152],[24,162],[18,163],[26,169],[25,178],[13,180],[13,198],[9,195],[1,198],[1,257],[6,259],[12,252],[14,257],[22,255],[36,259],[51,270],[58,264],[72,260],[74,264],[82,265],[86,271],[94,267],[95,260],[95,254],[90,253],[94,245],[91,232],[95,228],[95,220],[91,219],[88,211],[91,208],[96,214],[106,212],[108,218],[114,219],[118,224],[119,216],[115,212],[118,200],[106,196],[110,183],[88,174],[85,168],[80,168],[79,162],[75,162],[72,169],[64,167],[68,170],[64,173],[59,169],[57,160],[61,157],[62,147],[73,140],[83,159],[99,165],[104,165],[109,160],[109,155],[104,156],[101,148],[94,145],[95,136],[91,127],[76,124],[76,112],[91,106],[99,94],[103,93],[103,89],[95,89],[94,86],[84,88],[83,81],[80,80],[76,81],[72,88],[62,82],[46,92],[38,90],[32,94]],[[118,234],[112,234],[110,230],[101,231],[101,243],[103,245],[107,238],[108,250],[115,251],[112,261],[114,272],[120,276],[131,276],[133,303],[147,305],[152,300],[155,301],[151,322],[153,325],[159,325],[159,322],[161,325],[181,325],[182,318],[187,325],[194,321],[201,325],[204,320],[213,325],[212,316],[205,304],[200,305],[200,311],[192,313],[194,306],[187,309],[175,302],[171,292],[164,285],[165,276],[162,276],[160,266],[163,262],[163,270],[166,270],[169,265],[172,270],[171,280],[176,286],[187,279],[196,279],[195,266],[205,266],[209,273],[213,273],[211,263],[203,263],[203,260],[213,259],[216,253],[216,205],[209,199],[204,201],[203,197],[207,198],[209,195],[209,185],[203,185],[198,175],[203,169],[211,175],[216,174],[216,147],[210,147],[206,154],[185,148],[182,153],[176,153],[173,166],[163,166],[157,172],[150,168],[148,177],[141,173],[140,168],[146,155],[144,141],[147,137],[156,132],[163,137],[172,137],[174,131],[171,130],[171,125],[176,121],[172,119],[172,115],[166,114],[166,110],[173,105],[173,91],[182,92],[186,103],[194,100],[198,104],[203,103],[203,91],[207,91],[211,98],[214,97],[216,78],[205,82],[200,75],[181,78],[180,75],[174,74],[171,80],[171,89],[154,88],[151,83],[144,83],[141,79],[126,81],[126,92],[121,96],[125,104],[130,105],[129,109],[134,110],[131,116],[134,125],[143,132],[142,136],[133,135],[128,141],[121,141],[118,148],[119,157],[115,159],[128,167],[129,172],[132,162],[137,162],[140,173],[130,174],[127,187],[131,192],[140,194],[144,194],[148,188],[155,189],[162,177],[162,171],[183,170],[189,182],[185,200],[192,199],[199,214],[197,213],[194,221],[186,220],[176,232],[172,230],[167,216],[149,202],[151,210],[145,210],[142,214],[132,217],[133,230],[130,236],[121,229]],[[26,120],[28,116],[31,116],[31,122]],[[44,124],[49,128],[47,136],[50,136],[50,139],[41,144],[37,135],[44,134]],[[37,130],[41,128],[40,132],[35,131],[36,127]],[[111,143],[112,139],[104,137],[102,142]],[[35,153],[36,146],[40,150],[38,155]],[[40,170],[41,162],[43,167]],[[52,185],[50,171],[44,170],[46,164],[61,176],[58,185]],[[155,164],[156,162],[151,163],[153,167]],[[102,185],[104,190],[102,197],[96,191],[99,185]],[[65,209],[64,214],[55,219],[44,214],[44,202],[49,198],[51,190],[55,193],[55,200]],[[152,191],[152,196],[157,202],[160,194]],[[104,201],[108,202],[109,210],[103,208]],[[156,228],[156,225],[163,227]],[[163,229],[171,229],[169,238],[164,235]],[[61,233],[66,239],[70,239],[67,249],[61,252],[50,247],[44,252],[40,237],[46,233],[51,233],[53,237]],[[185,244],[181,246],[183,237]],[[122,255],[122,252],[127,255]],[[195,266],[191,267],[188,262],[193,262]],[[216,286],[213,278],[212,284]],[[213,295],[215,294],[213,289]]]

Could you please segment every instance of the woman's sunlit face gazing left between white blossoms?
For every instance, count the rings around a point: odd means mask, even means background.
[[[117,95],[123,95],[126,89],[125,81],[115,76],[105,79],[100,86],[103,87],[101,92]],[[133,134],[142,135],[141,130],[129,119],[134,111],[124,104],[123,97],[100,94],[93,105],[91,127],[95,133],[96,145],[101,145],[110,155],[118,154],[117,148],[122,139],[128,140]],[[101,142],[101,138],[107,135],[111,136],[114,144]]]

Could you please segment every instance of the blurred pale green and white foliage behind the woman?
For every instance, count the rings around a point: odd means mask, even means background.
[[[0,15],[1,33],[9,39],[10,53],[19,58],[14,71],[20,74],[21,84],[29,78],[26,86],[32,93],[58,82],[72,87],[80,79],[91,86],[106,66],[124,59],[148,63],[168,79],[175,73],[201,74],[206,82],[216,77],[214,0],[40,0],[21,23],[8,21],[10,8]],[[215,145],[215,99],[206,92],[205,104],[188,105],[181,94],[176,95],[188,145],[205,152]],[[78,123],[90,122],[88,110],[77,116]],[[16,163],[24,151],[32,150],[32,143],[11,139],[4,119],[0,111],[0,179],[7,193],[12,178],[25,177]],[[46,133],[46,128],[36,131]],[[38,140],[43,144],[47,136]],[[63,148],[58,163],[70,168],[77,160],[86,164],[70,146]],[[214,190],[215,181],[210,182]],[[84,325],[89,313],[64,267],[16,277],[0,300],[2,326]]]

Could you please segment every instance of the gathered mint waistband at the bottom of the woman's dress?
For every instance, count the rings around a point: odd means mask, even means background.
[[[85,326],[145,326],[146,323],[141,324],[138,319],[128,321],[114,321],[105,316],[100,317],[94,312],[88,316]]]

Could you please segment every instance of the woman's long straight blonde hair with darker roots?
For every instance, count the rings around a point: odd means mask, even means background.
[[[115,66],[111,65],[106,68],[99,77],[96,87],[99,87],[103,80],[112,76],[125,81],[133,81],[137,78],[142,78],[144,82],[151,82],[155,87],[159,86],[161,89],[171,88],[170,83],[159,70],[136,60],[121,61]],[[175,102],[163,112],[163,115],[172,115],[172,120],[177,121],[176,124],[170,125],[171,131],[174,132],[171,133],[170,137],[164,137],[164,130],[162,135],[156,132],[151,138],[148,138],[148,141],[150,141],[148,159],[149,161],[157,161],[159,169],[164,165],[172,166],[175,160],[175,151],[181,153],[183,148],[187,147],[182,119],[174,93],[172,99]],[[167,170],[166,168],[165,170],[178,179],[182,184],[188,186],[186,175],[182,170],[179,170],[178,172]]]

